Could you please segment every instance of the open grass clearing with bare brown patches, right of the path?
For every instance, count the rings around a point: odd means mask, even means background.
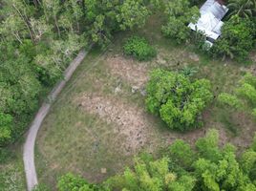
[[[160,118],[145,111],[144,86],[154,68],[195,67],[197,77],[211,80],[215,96],[230,92],[252,68],[210,59],[191,45],[175,45],[162,37],[160,22],[158,15],[152,16],[143,30],[135,32],[158,50],[150,62],[122,54],[121,45],[131,32],[117,34],[107,51],[89,53],[40,129],[35,159],[39,182],[54,185],[66,172],[104,180],[130,165],[139,152],[157,155],[176,138],[192,143],[208,128],[219,129],[222,142],[247,146],[255,122],[246,114],[221,108],[216,100],[203,113],[203,128],[186,134],[169,131]]]

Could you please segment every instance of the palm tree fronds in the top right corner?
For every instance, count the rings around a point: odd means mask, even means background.
[[[256,13],[256,0],[229,0],[229,16],[252,17]]]

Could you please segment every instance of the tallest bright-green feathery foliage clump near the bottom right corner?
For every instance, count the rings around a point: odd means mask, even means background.
[[[199,159],[193,166],[198,180],[197,187],[203,190],[244,190],[251,186],[255,190],[255,185],[248,180],[236,159],[235,147],[226,144],[221,149],[218,140],[218,133],[210,131],[196,143]]]

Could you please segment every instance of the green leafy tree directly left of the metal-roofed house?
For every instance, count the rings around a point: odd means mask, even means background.
[[[200,12],[198,7],[192,7],[188,0],[174,0],[166,3],[165,14],[167,23],[162,26],[163,34],[181,43],[189,39],[190,29],[187,25],[196,22]]]

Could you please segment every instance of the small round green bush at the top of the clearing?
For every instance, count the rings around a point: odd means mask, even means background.
[[[139,61],[150,60],[155,57],[157,52],[151,47],[145,38],[139,36],[130,37],[123,46],[124,53],[133,55]]]

